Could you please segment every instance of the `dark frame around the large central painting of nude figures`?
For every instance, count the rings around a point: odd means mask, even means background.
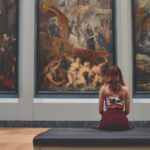
[[[112,28],[112,64],[116,64],[116,29],[115,29],[115,24],[116,24],[116,1],[115,0],[110,0],[111,1],[111,28]],[[96,92],[53,92],[53,91],[42,91],[39,90],[39,77],[37,76],[40,72],[40,62],[39,62],[39,57],[40,57],[40,52],[39,52],[39,47],[40,47],[40,42],[39,42],[39,32],[40,32],[40,0],[36,1],[36,29],[35,29],[35,36],[36,36],[36,42],[35,42],[35,97],[37,98],[97,98],[99,91]]]

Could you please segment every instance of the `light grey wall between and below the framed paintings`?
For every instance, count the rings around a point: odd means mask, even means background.
[[[0,120],[99,120],[97,99],[34,99],[35,1],[21,0],[19,99],[0,99]],[[117,62],[131,93],[129,120],[150,120],[150,98],[132,98],[131,0],[117,0]]]

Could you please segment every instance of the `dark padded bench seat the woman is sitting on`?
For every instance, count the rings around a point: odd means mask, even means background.
[[[150,146],[150,128],[102,131],[92,128],[52,128],[33,139],[35,146]]]

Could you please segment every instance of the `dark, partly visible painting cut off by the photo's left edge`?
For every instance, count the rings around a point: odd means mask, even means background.
[[[0,0],[0,95],[17,94],[18,0]]]

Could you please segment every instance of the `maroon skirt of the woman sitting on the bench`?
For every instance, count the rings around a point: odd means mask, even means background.
[[[122,109],[112,108],[104,112],[96,128],[99,130],[128,130],[129,122]]]

